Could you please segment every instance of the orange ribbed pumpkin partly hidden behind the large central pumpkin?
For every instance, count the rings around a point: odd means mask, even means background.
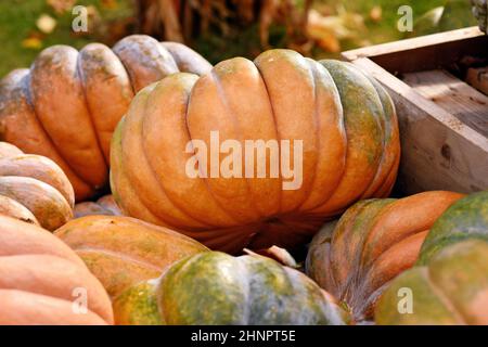
[[[112,50],[53,46],[0,82],[0,138],[57,163],[82,201],[107,183],[112,133],[134,92],[179,70],[209,68],[185,46],[143,35]]]

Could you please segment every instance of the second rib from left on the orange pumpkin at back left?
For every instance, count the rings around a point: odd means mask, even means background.
[[[77,74],[78,55],[78,51],[68,46],[46,49],[33,64],[29,86],[36,115],[60,153],[84,180],[97,189],[105,183],[107,169],[97,144]],[[52,93],[61,92],[61,85],[64,98],[50,98]],[[60,118],[64,121],[60,123]],[[87,162],[91,165],[87,166]]]

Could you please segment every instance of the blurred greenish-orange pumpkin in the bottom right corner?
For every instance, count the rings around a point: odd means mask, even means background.
[[[411,290],[411,313],[399,312],[400,288]],[[426,266],[403,272],[384,292],[374,317],[382,325],[487,325],[488,243],[450,244]]]

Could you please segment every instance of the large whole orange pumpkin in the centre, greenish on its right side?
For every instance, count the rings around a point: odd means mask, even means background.
[[[232,155],[215,154],[215,133],[234,140]],[[275,149],[244,154],[260,158],[251,178],[239,155],[247,141]],[[278,154],[295,158],[294,178],[271,175]],[[213,249],[293,249],[357,200],[387,196],[398,160],[395,107],[375,80],[349,63],[271,50],[141,90],[113,137],[111,183],[124,214]],[[211,176],[222,167],[232,175]]]

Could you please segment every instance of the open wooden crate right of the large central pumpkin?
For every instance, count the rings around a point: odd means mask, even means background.
[[[487,59],[488,36],[473,27],[343,56],[372,74],[395,101],[402,192],[488,189],[488,97],[449,73],[465,56]]]

